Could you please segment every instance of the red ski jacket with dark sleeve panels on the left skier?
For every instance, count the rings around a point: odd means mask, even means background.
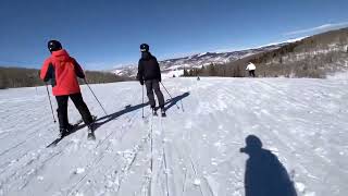
[[[76,76],[85,78],[84,71],[64,49],[53,51],[44,62],[40,72],[44,82],[51,79],[54,96],[80,93]]]

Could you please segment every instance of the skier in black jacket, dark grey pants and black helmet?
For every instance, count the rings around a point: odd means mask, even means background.
[[[141,58],[138,63],[137,78],[141,85],[146,85],[147,96],[149,98],[153,114],[156,114],[156,100],[153,96],[154,91],[159,101],[161,114],[165,115],[164,97],[160,89],[161,70],[156,57],[150,53],[149,49],[149,45],[140,45]]]

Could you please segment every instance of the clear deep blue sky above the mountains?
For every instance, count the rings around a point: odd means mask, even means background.
[[[47,41],[85,69],[237,50],[348,26],[347,0],[1,0],[0,65],[40,68]]]

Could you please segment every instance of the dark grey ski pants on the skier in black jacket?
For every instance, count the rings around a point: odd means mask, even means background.
[[[153,91],[157,96],[157,99],[159,101],[159,106],[160,108],[164,108],[164,97],[163,94],[160,89],[160,82],[159,79],[148,79],[145,81],[145,86],[146,86],[146,91],[147,91],[147,96],[149,98],[149,102],[151,108],[156,107],[156,100],[154,100],[154,95]]]

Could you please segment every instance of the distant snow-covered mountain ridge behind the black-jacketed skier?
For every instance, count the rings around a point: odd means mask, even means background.
[[[289,41],[294,41],[294,40],[289,40]],[[197,54],[183,57],[183,58],[163,60],[163,61],[160,61],[159,63],[160,63],[162,73],[164,74],[164,77],[165,75],[178,76],[181,75],[181,73],[183,73],[184,68],[191,69],[191,68],[201,68],[202,65],[209,65],[209,64],[224,64],[224,63],[228,63],[251,54],[277,49],[289,41],[273,44],[273,45],[268,45],[259,48],[246,49],[240,51],[197,53]],[[137,65],[136,64],[124,65],[120,69],[112,70],[111,72],[122,76],[135,76],[137,73]]]

